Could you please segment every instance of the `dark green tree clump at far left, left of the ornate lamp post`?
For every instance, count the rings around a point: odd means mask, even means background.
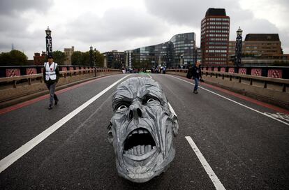
[[[11,50],[10,52],[2,52],[0,54],[0,66],[22,66],[27,65],[28,57],[18,51]]]

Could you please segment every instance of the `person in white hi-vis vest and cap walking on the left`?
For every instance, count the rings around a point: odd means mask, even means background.
[[[52,55],[48,55],[47,62],[44,63],[43,79],[47,86],[47,89],[50,92],[50,101],[48,109],[51,110],[53,105],[53,99],[55,101],[55,105],[57,105],[59,101],[57,95],[55,94],[55,87],[59,80],[59,68],[57,66],[57,63],[53,62]]]

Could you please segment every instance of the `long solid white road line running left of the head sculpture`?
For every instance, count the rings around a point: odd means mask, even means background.
[[[100,92],[100,93],[96,94],[96,96],[90,98],[89,101],[87,101],[87,102],[83,103],[82,105],[80,105],[80,107],[78,107],[75,110],[73,110],[73,112],[69,113],[64,118],[60,119],[58,122],[56,122],[55,124],[50,126],[48,129],[46,129],[45,131],[40,133],[38,136],[36,136],[35,138],[29,140],[29,142],[27,142],[25,145],[22,145],[22,147],[16,149],[14,152],[9,154],[5,158],[1,159],[1,161],[0,161],[0,173],[3,170],[5,170],[6,168],[8,168],[12,163],[17,161],[17,159],[20,159],[24,154],[26,154],[31,149],[33,149],[41,141],[45,140],[45,138],[50,136],[54,131],[57,131],[57,129],[59,129],[61,126],[63,126],[71,118],[73,118],[79,112],[84,110],[84,108],[87,108],[88,105],[90,105],[91,103],[96,101],[99,97],[101,97],[103,94],[105,94],[105,92],[108,92],[108,90],[110,90],[112,87],[117,85],[117,83],[119,83],[121,80],[123,80],[124,78],[127,78],[127,77],[128,77],[128,75],[126,75],[125,77],[117,80],[117,82],[114,82],[112,85],[110,85],[109,87],[104,89],[102,92]]]

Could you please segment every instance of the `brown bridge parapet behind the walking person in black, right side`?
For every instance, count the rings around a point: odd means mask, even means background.
[[[187,69],[168,69],[168,74],[186,77]],[[253,75],[214,71],[202,68],[202,78],[206,83],[251,96],[267,103],[289,109],[289,80],[260,76],[260,70],[251,70]]]

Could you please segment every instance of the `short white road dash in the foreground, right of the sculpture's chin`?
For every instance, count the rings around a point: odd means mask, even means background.
[[[218,176],[214,173],[211,166],[209,166],[209,163],[207,163],[204,156],[202,156],[202,152],[200,152],[200,149],[198,149],[197,145],[195,145],[195,142],[193,142],[193,139],[190,136],[185,137],[186,140],[188,140],[188,143],[191,145],[193,152],[198,156],[198,159],[200,160],[200,163],[202,163],[202,167],[205,168],[207,174],[209,175],[209,178],[212,180],[214,186],[217,190],[225,190],[225,187],[223,187],[223,184],[220,180],[218,180]]]

